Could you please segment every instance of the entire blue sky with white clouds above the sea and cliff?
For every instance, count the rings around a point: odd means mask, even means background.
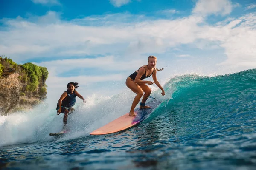
[[[255,0],[1,0],[0,54],[49,70],[85,94],[122,92],[147,57],[161,84],[180,74],[256,68]],[[118,89],[118,90],[117,90]]]

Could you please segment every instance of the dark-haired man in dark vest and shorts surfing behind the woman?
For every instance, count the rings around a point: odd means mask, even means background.
[[[64,113],[63,117],[63,130],[66,130],[66,125],[67,125],[67,117],[69,114],[73,113],[75,109],[72,108],[73,105],[76,103],[76,96],[78,96],[80,99],[83,100],[85,103],[85,99],[83,96],[81,96],[77,91],[76,88],[78,88],[78,83],[77,82],[69,82],[67,84],[67,91],[64,91],[63,94],[61,95],[60,99],[58,100],[57,103],[57,115],[60,113]]]

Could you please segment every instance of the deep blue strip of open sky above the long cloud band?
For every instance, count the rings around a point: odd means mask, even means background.
[[[191,0],[2,0],[4,12],[1,17],[27,17],[28,13],[44,15],[47,11],[61,12],[61,18],[72,20],[90,15],[111,13],[153,14],[154,11],[169,10],[191,11],[195,2]]]

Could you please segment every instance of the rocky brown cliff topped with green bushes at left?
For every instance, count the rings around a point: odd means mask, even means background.
[[[45,67],[18,65],[0,56],[0,115],[30,109],[46,99],[47,77]]]

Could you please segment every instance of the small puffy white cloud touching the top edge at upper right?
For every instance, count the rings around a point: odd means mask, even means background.
[[[202,16],[210,14],[227,15],[230,14],[231,11],[232,3],[230,0],[198,0],[193,9],[194,14]]]

